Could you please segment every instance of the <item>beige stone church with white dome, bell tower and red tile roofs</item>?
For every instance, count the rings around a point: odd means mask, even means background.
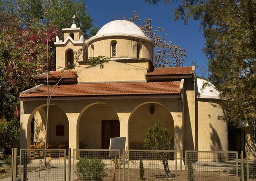
[[[32,120],[34,141],[45,142],[48,127],[47,142],[68,142],[71,149],[79,143],[109,149],[114,137],[126,137],[126,149],[143,149],[148,128],[161,121],[178,153],[228,151],[227,123],[217,120],[223,110],[211,105],[218,105],[218,91],[210,83],[201,90],[207,81],[195,77],[195,66],[155,68],[154,41],[127,20],[113,20],[85,41],[76,24],[62,30],[64,40],[54,43],[56,70],[49,73],[48,126],[45,73],[19,96],[20,148],[30,148]],[[87,57],[99,55],[110,60],[103,69],[90,67]],[[75,69],[63,70],[72,64]]]

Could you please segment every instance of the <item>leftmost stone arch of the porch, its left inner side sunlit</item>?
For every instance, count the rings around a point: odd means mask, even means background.
[[[66,113],[64,110],[56,106],[54,104],[49,105],[49,121],[48,121],[48,134],[47,134],[47,142],[55,142],[56,145],[58,145],[58,142],[68,142],[69,141],[69,121],[67,118]],[[41,125],[42,127],[38,128],[38,132],[35,134],[38,134],[38,139],[35,140],[37,142],[45,142],[45,129],[46,129],[46,114],[47,114],[47,104],[43,104],[41,106],[38,106],[36,109],[32,111],[32,113],[29,115],[29,119],[27,122],[27,148],[30,148],[30,134],[31,134],[31,122],[34,116],[40,117],[38,120],[38,125]],[[35,120],[36,121],[36,120]],[[35,124],[37,124],[35,122]],[[63,125],[64,126],[64,135],[63,136],[57,136],[57,125]],[[35,128],[37,129],[37,128]]]

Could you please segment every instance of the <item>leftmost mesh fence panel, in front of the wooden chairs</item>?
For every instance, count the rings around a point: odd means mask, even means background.
[[[66,181],[66,149],[20,149],[21,181]]]

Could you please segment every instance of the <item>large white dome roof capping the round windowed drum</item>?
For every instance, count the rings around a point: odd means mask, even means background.
[[[145,34],[136,24],[127,20],[114,20],[105,24],[95,36],[87,40],[87,43],[100,37],[111,36],[137,37],[150,41],[154,45],[154,41],[145,36]]]

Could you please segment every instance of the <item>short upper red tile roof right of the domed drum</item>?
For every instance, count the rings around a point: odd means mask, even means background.
[[[155,68],[147,76],[154,75],[187,75],[192,74],[192,66]]]

